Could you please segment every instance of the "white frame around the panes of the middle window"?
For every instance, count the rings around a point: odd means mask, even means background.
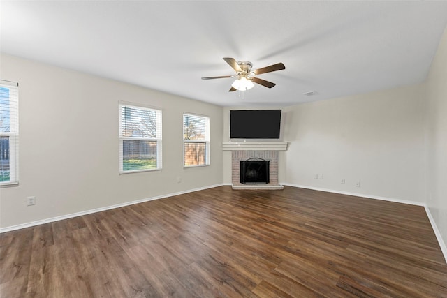
[[[151,112],[156,112],[156,137],[132,137],[126,136],[123,134],[122,124],[123,124],[123,108],[126,107],[146,110]],[[142,105],[140,103],[128,103],[124,101],[120,101],[118,105],[118,139],[119,139],[119,151],[118,151],[118,163],[119,163],[119,174],[131,174],[135,172],[153,172],[159,171],[163,169],[163,111],[159,107],[150,107],[147,105]],[[156,167],[152,169],[141,169],[141,170],[124,170],[123,162],[124,162],[124,153],[123,153],[123,144],[124,140],[135,140],[135,141],[148,141],[148,142],[156,142]]]

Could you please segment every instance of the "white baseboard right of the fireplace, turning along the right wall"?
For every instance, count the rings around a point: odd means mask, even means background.
[[[400,200],[400,199],[394,199],[394,198],[386,198],[386,197],[380,197],[377,195],[365,195],[363,193],[349,193],[346,191],[334,191],[333,189],[310,187],[310,186],[305,186],[305,185],[297,185],[297,184],[289,184],[289,183],[281,183],[281,184],[286,185],[286,186],[298,187],[298,188],[312,189],[314,191],[325,191],[328,193],[339,193],[342,195],[354,195],[356,197],[362,197],[362,198],[368,198],[368,199],[383,200],[383,201],[388,201],[388,202],[397,202],[397,203],[402,203],[402,204],[411,204],[411,205],[416,205],[416,206],[422,206],[425,209],[425,213],[427,214],[430,224],[432,225],[432,229],[434,231],[434,234],[436,235],[436,239],[438,241],[439,247],[441,248],[442,254],[444,255],[444,259],[446,259],[446,263],[447,263],[446,242],[444,242],[444,240],[442,239],[441,233],[439,232],[438,227],[437,227],[436,223],[434,222],[433,216],[430,213],[430,209],[428,209],[427,204],[425,204],[425,203]]]

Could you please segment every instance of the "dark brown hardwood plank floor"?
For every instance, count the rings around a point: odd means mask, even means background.
[[[1,298],[447,297],[423,207],[211,188],[1,234]]]

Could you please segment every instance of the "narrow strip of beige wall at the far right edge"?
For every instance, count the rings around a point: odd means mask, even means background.
[[[427,205],[447,244],[447,29],[426,81]],[[446,254],[447,251],[444,251]],[[447,255],[446,255],[447,259]]]

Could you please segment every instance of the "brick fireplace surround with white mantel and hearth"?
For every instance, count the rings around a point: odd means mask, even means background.
[[[287,149],[287,142],[223,142],[223,150],[231,151],[231,182],[233,189],[282,189],[278,182],[279,151]],[[262,158],[270,161],[268,184],[241,184],[240,161]]]

